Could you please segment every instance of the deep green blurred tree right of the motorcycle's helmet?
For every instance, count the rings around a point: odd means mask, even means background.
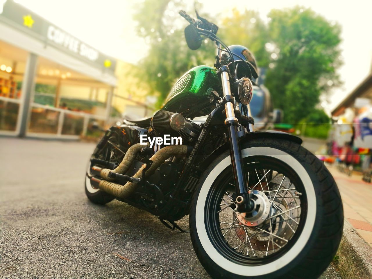
[[[322,93],[339,83],[340,26],[301,7],[272,10],[269,17],[269,46],[275,50],[265,84],[274,106],[284,110],[285,121],[295,124],[314,111]]]

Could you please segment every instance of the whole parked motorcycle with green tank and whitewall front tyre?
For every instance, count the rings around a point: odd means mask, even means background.
[[[187,71],[153,117],[106,131],[89,161],[87,197],[128,203],[180,231],[176,221],[189,215],[212,278],[317,278],[343,230],[333,177],[300,138],[254,131],[258,73],[248,48],[225,45],[197,12],[180,15],[189,48],[215,42],[215,67]]]

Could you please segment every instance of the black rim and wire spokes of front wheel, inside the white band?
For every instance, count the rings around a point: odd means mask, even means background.
[[[262,265],[278,259],[296,242],[306,218],[306,193],[295,171],[287,164],[278,164],[275,158],[247,157],[244,166],[247,177],[250,176],[248,190],[259,189],[259,193],[267,196],[271,205],[269,217],[253,227],[240,222],[234,211],[236,194],[232,171],[227,168],[209,192],[205,206],[206,228],[218,252],[229,261]],[[252,175],[256,177],[252,179]]]

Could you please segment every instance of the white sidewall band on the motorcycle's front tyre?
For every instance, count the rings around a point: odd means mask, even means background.
[[[277,148],[267,146],[244,148],[242,150],[242,155],[243,158],[259,155],[273,157],[279,159],[280,162],[286,163],[291,166],[292,169],[294,169],[298,176],[301,178],[302,184],[305,188],[305,193],[307,195],[307,203],[309,205],[312,205],[308,206],[304,228],[301,234],[297,236],[298,240],[289,251],[283,253],[283,255],[280,256],[278,259],[272,259],[271,262],[266,262],[265,264],[262,263],[262,265],[247,265],[232,262],[222,256],[222,254],[220,254],[215,247],[215,244],[212,242],[209,235],[207,234],[208,228],[205,219],[205,208],[207,206],[207,197],[211,190],[211,186],[222,171],[227,168],[231,168],[230,156],[226,154],[226,157],[215,164],[215,167],[206,175],[206,178],[203,180],[201,189],[198,194],[194,213],[195,216],[193,219],[193,222],[195,222],[197,237],[200,244],[202,245],[203,250],[208,254],[210,260],[212,260],[213,262],[218,264],[218,266],[220,266],[222,269],[227,270],[228,272],[236,275],[246,274],[250,276],[259,276],[276,272],[282,267],[291,265],[292,261],[297,259],[299,254],[305,249],[305,247],[307,247],[315,224],[315,217],[317,213],[315,205],[317,203],[317,200],[315,196],[314,185],[312,179],[310,178],[310,173],[308,173],[305,167],[294,156],[286,153],[285,151],[278,150]]]

